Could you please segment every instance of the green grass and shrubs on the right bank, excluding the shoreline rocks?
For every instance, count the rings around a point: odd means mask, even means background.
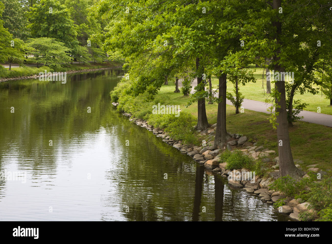
[[[195,143],[196,145],[202,144],[203,139],[208,141],[208,135],[201,135],[193,129],[197,121],[197,103],[186,108],[185,105],[190,98],[183,96],[182,93],[174,93],[175,86],[172,82],[169,84],[163,85],[155,97],[143,94],[133,98],[123,93],[127,84],[120,83],[114,92],[111,92],[112,102],[119,102],[118,110],[131,113],[133,117],[145,119],[154,127],[163,128],[173,139],[181,139],[184,140],[184,143]],[[180,106],[180,116],[175,118],[174,115],[152,115],[152,106],[157,103]],[[217,104],[206,104],[206,112],[208,122],[215,123]],[[226,105],[226,118],[228,132],[243,134],[248,137],[248,141],[257,142],[258,146],[263,145],[264,148],[275,150],[278,153],[277,133],[268,121],[269,115],[250,110],[235,114],[235,108]],[[294,161],[311,178],[303,179],[299,183],[280,178],[275,181],[274,189],[285,193],[289,198],[300,197],[303,202],[309,202],[316,212],[324,209],[323,212],[319,213],[320,220],[331,221],[331,178],[325,176],[322,181],[317,183],[315,181],[316,173],[309,173],[306,166],[317,164],[317,168],[326,171],[329,176],[331,175],[332,154],[330,148],[332,141],[330,135],[332,128],[307,122],[295,122],[289,131]],[[277,156],[277,153],[273,157]],[[272,159],[263,165],[266,168],[266,171],[263,172],[264,176],[268,176],[269,172],[273,171],[271,169],[273,165],[275,163]],[[322,195],[323,193],[325,195]],[[282,203],[278,204],[283,205]]]

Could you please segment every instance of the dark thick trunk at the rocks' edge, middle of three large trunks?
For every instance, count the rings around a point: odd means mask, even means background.
[[[218,147],[222,148],[230,138],[230,135],[226,131],[226,78],[227,74],[219,76],[219,99],[222,100],[218,103],[217,126],[213,144],[215,149]]]

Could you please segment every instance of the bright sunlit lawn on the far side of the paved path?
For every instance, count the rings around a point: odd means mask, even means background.
[[[252,67],[251,69],[255,69]],[[264,73],[264,84],[262,81],[262,75]],[[266,99],[271,99],[270,94],[266,93],[266,81],[265,81],[265,72],[262,68],[256,68],[254,72],[254,77],[256,78],[256,83],[250,82],[245,86],[239,84],[239,91],[243,94],[244,98],[265,102]],[[216,77],[211,77],[213,89],[218,87],[218,79]],[[274,84],[271,83],[271,88],[274,87]],[[314,86],[314,88],[319,88]],[[231,92],[235,95],[234,85],[231,82],[227,82],[227,92]],[[320,107],[322,114],[332,115],[332,106],[330,106],[330,100],[326,99],[325,96],[320,93],[313,95],[311,93],[295,94],[294,100],[301,100],[302,103],[309,104],[304,110],[317,112],[317,107]]]

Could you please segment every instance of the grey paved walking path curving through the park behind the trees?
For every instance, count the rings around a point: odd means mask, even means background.
[[[182,82],[179,79],[179,87],[182,86]],[[195,79],[192,83],[192,91],[191,93],[194,93],[194,87],[197,86],[197,79]],[[215,96],[218,96],[216,93]],[[227,99],[226,104],[232,105],[232,103]],[[244,99],[242,103],[242,107],[244,110],[253,110],[257,112],[262,112],[266,114],[270,114],[267,109],[271,106],[271,104],[260,102],[260,101],[255,101],[255,100],[250,100],[250,99]],[[321,113],[315,113],[315,112],[310,112],[310,111],[301,111],[297,116],[303,116],[303,119],[301,121],[309,122],[309,123],[314,123],[314,124],[321,124],[325,125],[328,127],[332,127],[332,115],[326,115],[326,114],[321,114]]]

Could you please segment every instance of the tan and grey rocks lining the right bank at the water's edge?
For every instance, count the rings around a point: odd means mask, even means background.
[[[119,103],[112,103],[114,106],[119,105]],[[201,135],[208,135],[208,142],[206,146],[197,146],[194,144],[186,145],[183,144],[181,140],[174,140],[170,138],[162,129],[154,128],[152,125],[149,125],[147,121],[137,118],[131,118],[131,114],[123,113],[124,116],[129,117],[129,121],[136,123],[137,125],[146,128],[147,130],[151,131],[157,137],[161,137],[164,142],[173,147],[177,148],[182,154],[187,154],[192,157],[195,161],[199,162],[200,164],[204,165],[205,168],[211,170],[213,173],[220,174],[222,177],[228,178],[228,176],[232,179],[236,178],[236,175],[240,175],[243,173],[248,173],[246,169],[225,169],[227,162],[220,162],[220,154],[222,150],[241,150],[244,155],[252,157],[254,160],[259,159],[260,157],[263,162],[271,162],[275,163],[272,166],[275,169],[272,172],[269,172],[269,178],[260,178],[258,176],[255,177],[254,183],[251,183],[250,180],[229,180],[228,185],[233,189],[243,189],[249,194],[258,195],[262,202],[265,202],[269,205],[276,203],[277,201],[283,199],[285,205],[280,206],[275,209],[275,211],[289,215],[290,219],[299,221],[300,214],[304,211],[309,211],[313,213],[313,217],[308,220],[313,220],[317,218],[317,213],[313,212],[312,210],[308,210],[309,203],[302,202],[302,199],[293,199],[286,197],[283,193],[270,190],[269,184],[274,181],[275,179],[279,178],[279,157],[275,157],[271,159],[269,157],[273,156],[276,152],[274,150],[269,150],[264,148],[263,146],[256,146],[257,143],[252,143],[247,141],[246,136],[241,136],[239,134],[232,134],[232,139],[228,141],[227,146],[223,149],[216,149],[213,150],[213,133],[215,133],[216,124],[213,124],[210,128],[204,131],[198,131]],[[242,149],[240,149],[242,148]],[[301,161],[298,161],[300,163]],[[317,165],[309,165],[311,167],[308,171],[315,171],[318,172],[318,168],[314,168]],[[296,164],[296,167],[300,168],[299,164]],[[322,172],[322,171],[320,171]],[[309,177],[307,174],[303,176]],[[290,221],[290,220],[289,220]]]

